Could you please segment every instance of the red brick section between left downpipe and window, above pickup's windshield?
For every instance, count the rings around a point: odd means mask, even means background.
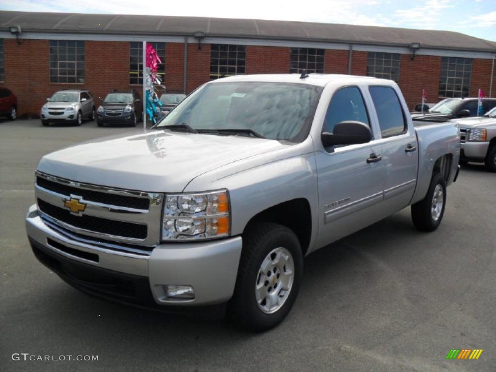
[[[210,78],[210,44],[187,46],[187,92],[191,92],[198,85],[207,82]]]

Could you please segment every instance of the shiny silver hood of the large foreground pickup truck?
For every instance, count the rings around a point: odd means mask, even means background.
[[[288,146],[270,139],[152,129],[55,151],[41,158],[38,170],[101,186],[180,192],[208,171]]]

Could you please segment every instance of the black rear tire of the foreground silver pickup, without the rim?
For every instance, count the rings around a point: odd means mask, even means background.
[[[442,189],[442,207],[437,219],[433,217],[434,190],[436,186]],[[437,198],[438,199],[438,198]],[[427,190],[426,197],[412,205],[412,222],[419,231],[434,231],[441,223],[446,206],[446,182],[440,173],[435,173],[431,185]]]

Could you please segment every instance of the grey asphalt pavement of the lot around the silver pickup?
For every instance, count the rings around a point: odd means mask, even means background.
[[[0,123],[1,371],[495,371],[496,174],[464,167],[434,233],[416,232],[404,210],[311,254],[286,321],[250,334],[93,299],[32,255],[24,215],[38,159],[124,130]],[[445,359],[463,348],[484,352]]]

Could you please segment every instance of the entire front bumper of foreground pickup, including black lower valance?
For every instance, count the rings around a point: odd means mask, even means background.
[[[234,292],[242,239],[160,244],[148,253],[84,242],[47,224],[36,205],[26,231],[36,257],[84,292],[148,308],[222,304]],[[165,285],[189,285],[191,300],[170,299]]]

